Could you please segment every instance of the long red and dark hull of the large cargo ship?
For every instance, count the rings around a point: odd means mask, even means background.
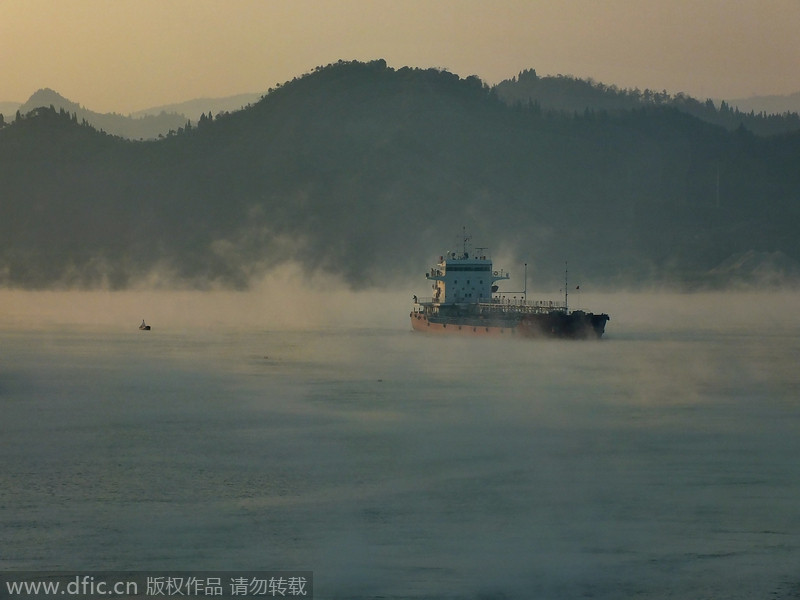
[[[439,317],[424,312],[411,313],[414,331],[440,335],[494,338],[600,339],[609,317],[575,311],[551,311],[506,319]]]

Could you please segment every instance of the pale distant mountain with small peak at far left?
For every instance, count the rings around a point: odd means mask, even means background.
[[[146,114],[141,117],[125,117],[116,113],[97,113],[83,108],[76,102],[67,100],[57,92],[44,88],[36,91],[19,107],[20,114],[52,106],[56,110],[65,110],[75,114],[80,121],[86,121],[92,127],[129,139],[154,139],[166,135],[186,125],[187,118],[177,113],[160,111],[158,114]]]

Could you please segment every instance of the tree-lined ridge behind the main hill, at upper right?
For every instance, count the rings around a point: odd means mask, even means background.
[[[740,110],[747,103],[737,106],[722,100],[715,104],[713,100],[701,102],[682,93],[671,95],[666,91],[619,89],[591,79],[564,75],[540,77],[534,69],[527,69],[517,77],[500,82],[495,86],[495,91],[509,104],[531,104],[542,110],[583,114],[661,106],[674,108],[729,130],[740,125],[760,135],[800,130],[800,116],[796,111],[756,112],[751,108],[747,112]]]

